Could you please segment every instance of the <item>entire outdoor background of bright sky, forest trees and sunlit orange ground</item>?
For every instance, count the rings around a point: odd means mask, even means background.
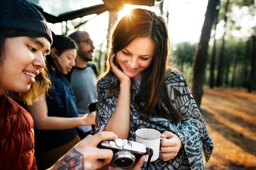
[[[96,47],[93,62],[103,72],[110,25],[138,8],[125,7],[51,28],[64,35],[89,32]],[[173,66],[184,72],[215,146],[206,169],[256,169],[256,0],[160,0],[153,7],[139,8],[162,13],[168,23]],[[198,15],[186,19],[192,13]],[[181,15],[184,18],[179,19]],[[194,26],[200,34],[192,40],[197,35],[191,31]]]

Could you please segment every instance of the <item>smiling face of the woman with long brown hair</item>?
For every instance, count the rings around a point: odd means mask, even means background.
[[[148,37],[134,39],[128,46],[117,52],[117,63],[124,73],[135,77],[147,69],[154,56],[155,43]]]

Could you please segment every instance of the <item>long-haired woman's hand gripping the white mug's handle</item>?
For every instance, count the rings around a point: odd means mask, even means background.
[[[165,131],[162,133],[161,137],[165,137],[165,140],[161,140],[159,158],[162,161],[168,161],[177,156],[180,148],[183,147],[183,144],[180,138],[174,133]]]

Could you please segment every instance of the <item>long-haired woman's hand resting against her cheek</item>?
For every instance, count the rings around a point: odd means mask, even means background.
[[[119,70],[119,68],[115,65],[114,57],[115,57],[115,53],[113,53],[111,51],[110,57],[109,57],[109,63],[110,63],[112,72],[117,76],[120,83],[121,82],[130,82],[130,77],[126,76],[126,74],[124,74],[124,72],[122,70]]]

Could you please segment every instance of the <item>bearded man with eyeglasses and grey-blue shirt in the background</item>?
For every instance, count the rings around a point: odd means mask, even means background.
[[[95,86],[97,83],[97,68],[92,61],[95,47],[89,33],[85,31],[76,31],[69,35],[77,45],[77,57],[75,67],[67,75],[70,81],[74,95],[76,97],[76,107],[81,116],[89,114],[88,104],[97,100]],[[95,113],[93,113],[95,114]],[[92,126],[79,126],[78,134],[83,139],[88,134],[93,133]]]

